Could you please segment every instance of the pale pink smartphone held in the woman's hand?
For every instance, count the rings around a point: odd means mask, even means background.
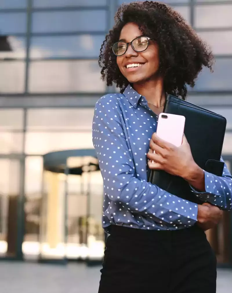
[[[182,115],[160,113],[156,134],[166,142],[179,147],[184,135],[185,117]]]

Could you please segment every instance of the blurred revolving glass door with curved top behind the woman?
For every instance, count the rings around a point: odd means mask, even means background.
[[[92,149],[44,156],[40,262],[102,262],[103,183]]]

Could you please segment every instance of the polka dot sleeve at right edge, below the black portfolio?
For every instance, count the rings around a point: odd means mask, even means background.
[[[223,161],[221,157],[221,161]],[[209,172],[205,173],[205,192],[193,193],[202,201],[217,205],[222,210],[232,209],[232,176],[225,164],[222,176],[216,176]]]

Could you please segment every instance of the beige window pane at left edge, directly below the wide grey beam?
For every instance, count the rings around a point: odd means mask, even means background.
[[[0,109],[2,130],[23,130],[23,109]]]

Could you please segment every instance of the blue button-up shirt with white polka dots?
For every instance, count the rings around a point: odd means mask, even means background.
[[[192,226],[198,207],[147,182],[147,152],[157,115],[131,86],[96,103],[92,139],[104,182],[103,228],[111,224],[138,229],[174,230]],[[222,160],[222,159],[221,159]],[[193,197],[231,209],[232,177],[205,171],[206,192]]]

